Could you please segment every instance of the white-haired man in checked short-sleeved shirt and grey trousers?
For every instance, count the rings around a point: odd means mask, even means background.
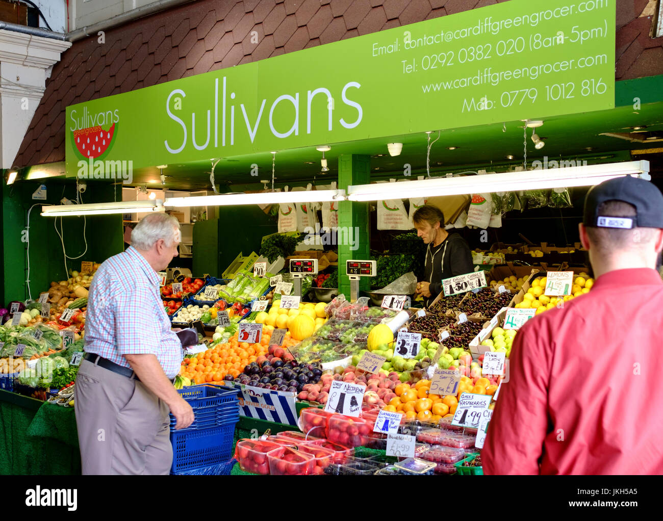
[[[177,255],[179,243],[177,219],[148,215],[133,230],[131,247],[95,273],[74,396],[84,475],[168,474],[168,412],[178,429],[194,421],[173,386],[182,344],[170,328],[156,273]]]

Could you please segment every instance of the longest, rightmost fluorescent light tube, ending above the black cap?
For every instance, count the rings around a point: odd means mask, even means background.
[[[648,179],[648,172],[648,161],[631,161],[526,170],[524,172],[503,172],[481,176],[363,184],[349,186],[347,188],[347,199],[350,201],[380,201],[417,198],[422,195],[429,197],[457,196],[485,192],[518,192],[519,190],[593,186],[609,179],[627,175],[637,175]]]

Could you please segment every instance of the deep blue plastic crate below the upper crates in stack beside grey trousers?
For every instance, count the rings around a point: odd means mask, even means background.
[[[232,457],[235,424],[170,433],[171,473],[194,471],[227,462]]]

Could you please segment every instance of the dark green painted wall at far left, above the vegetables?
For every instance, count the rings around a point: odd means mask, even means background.
[[[76,199],[76,185],[62,181],[46,182],[46,203],[57,204],[62,197]],[[11,186],[2,184],[2,255],[4,280],[1,286],[3,302],[25,300],[29,292],[25,280],[27,274],[28,243],[22,238],[29,238],[30,255],[30,290],[36,300],[40,291],[46,290],[52,280],[66,278],[62,242],[56,233],[56,219],[42,217],[40,206],[30,211],[29,234],[25,234],[27,215],[30,207],[37,203],[32,200],[32,193],[40,186],[38,181],[21,181]],[[121,193],[118,190],[118,197]],[[113,201],[113,187],[109,184],[88,184],[83,195],[84,202]],[[42,203],[42,202],[39,202]],[[123,228],[121,215],[91,215],[86,217],[66,217],[57,219],[58,231],[62,223],[64,246],[67,255],[78,257],[86,250],[84,239],[88,241],[88,250],[80,259],[68,260],[69,270],[80,270],[81,261],[103,262],[108,257],[123,251]]]

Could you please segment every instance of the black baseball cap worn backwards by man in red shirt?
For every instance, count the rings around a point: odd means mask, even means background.
[[[636,215],[599,215],[599,206],[608,201],[632,204]],[[583,224],[620,229],[663,228],[663,194],[649,181],[631,176],[604,181],[587,192]]]

